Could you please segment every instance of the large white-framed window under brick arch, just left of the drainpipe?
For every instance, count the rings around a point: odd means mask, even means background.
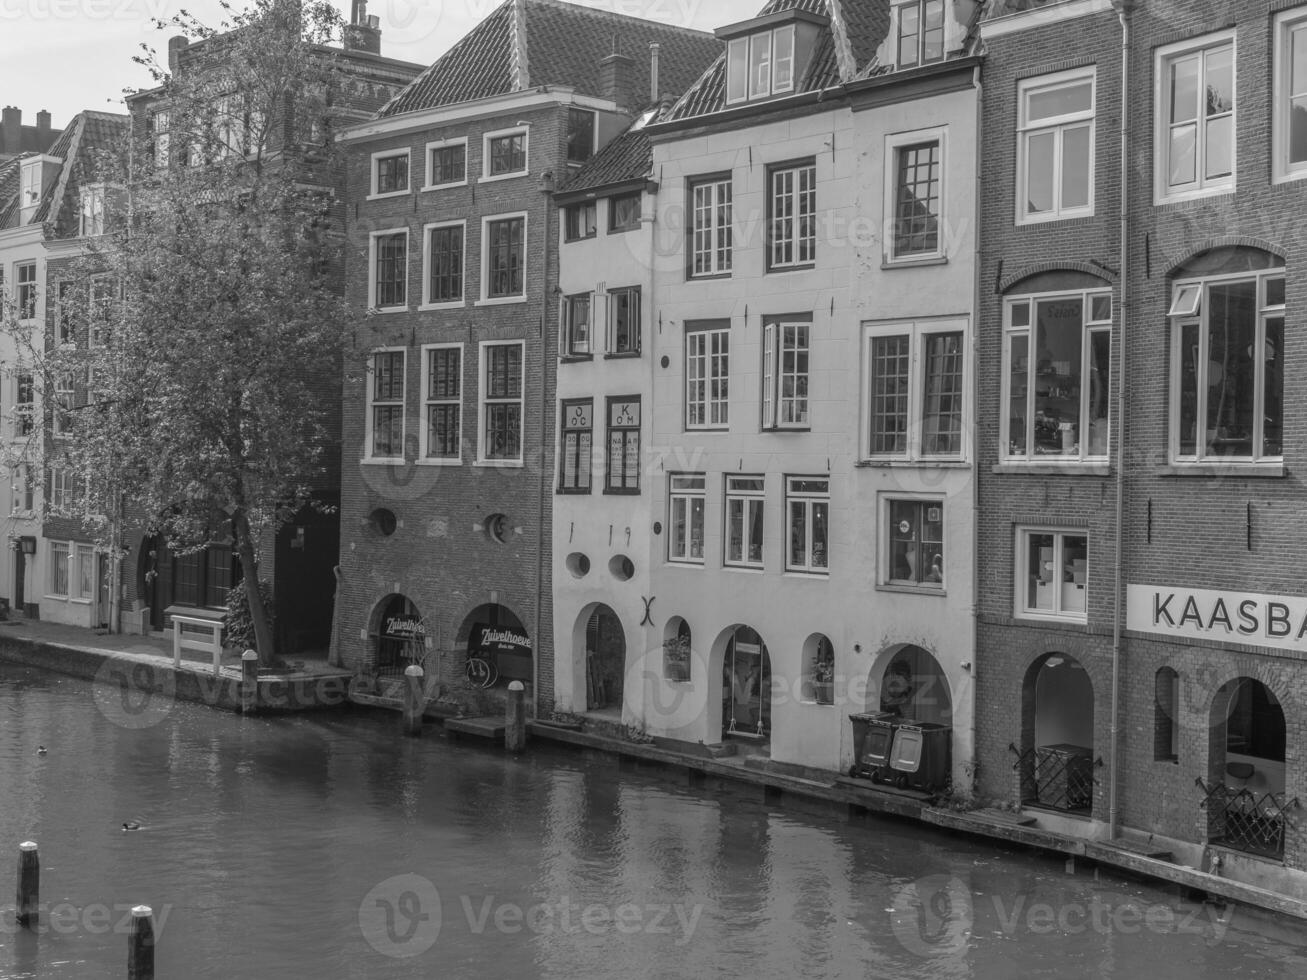
[[[1009,297],[1004,303],[1002,384],[1002,459],[1106,461],[1112,291]]]

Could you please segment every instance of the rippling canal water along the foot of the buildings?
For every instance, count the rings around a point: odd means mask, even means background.
[[[1307,975],[1298,924],[1046,856],[0,665],[0,902],[26,839],[44,917],[3,906],[5,979],[125,976],[135,904],[159,980]]]

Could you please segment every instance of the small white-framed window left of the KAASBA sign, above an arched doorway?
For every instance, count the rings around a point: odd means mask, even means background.
[[[1018,528],[1016,613],[1034,619],[1087,618],[1089,536]]]

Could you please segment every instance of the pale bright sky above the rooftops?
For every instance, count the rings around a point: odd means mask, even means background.
[[[748,20],[765,0],[572,0],[584,7],[664,24],[712,30]],[[382,54],[430,64],[502,0],[371,0],[380,18]],[[240,7],[242,0],[234,0]],[[349,16],[349,0],[336,0]],[[167,50],[178,33],[167,21],[186,9],[222,22],[218,0],[0,0],[0,105],[18,106],[35,124],[50,110],[56,128],[84,108],[122,112],[124,89],[150,86],[132,61],[141,43]],[[161,59],[162,60],[162,59]]]

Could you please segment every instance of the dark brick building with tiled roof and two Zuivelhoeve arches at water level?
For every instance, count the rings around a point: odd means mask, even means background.
[[[423,661],[444,694],[520,679],[553,704],[552,193],[718,51],[698,31],[510,0],[344,135],[348,297],[369,311],[344,391],[348,666]],[[469,686],[469,656],[489,690]]]

